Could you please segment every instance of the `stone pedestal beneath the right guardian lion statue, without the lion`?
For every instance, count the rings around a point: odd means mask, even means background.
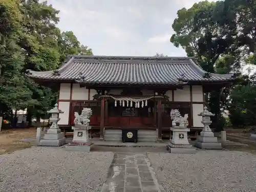
[[[190,131],[187,127],[174,126],[170,128],[173,131],[173,139],[170,141],[166,149],[170,153],[180,154],[194,154],[196,148],[189,144],[187,139],[187,132]]]

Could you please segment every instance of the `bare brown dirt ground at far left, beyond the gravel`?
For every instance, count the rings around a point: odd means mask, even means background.
[[[0,155],[33,146],[33,142],[22,142],[20,140],[35,136],[36,129],[34,127],[28,129],[2,130],[2,133],[0,133]]]

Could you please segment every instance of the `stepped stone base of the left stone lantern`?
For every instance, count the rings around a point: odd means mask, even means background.
[[[60,129],[49,129],[44,138],[40,140],[39,146],[61,146],[66,143],[66,138]]]

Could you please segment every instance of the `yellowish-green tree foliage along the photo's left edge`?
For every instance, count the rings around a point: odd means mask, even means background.
[[[12,114],[12,109],[25,109],[31,92],[25,86],[22,73],[24,56],[18,46],[22,31],[22,13],[17,1],[0,1],[0,116]]]

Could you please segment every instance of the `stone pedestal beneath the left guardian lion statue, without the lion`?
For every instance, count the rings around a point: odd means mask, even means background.
[[[75,125],[72,126],[74,130],[73,140],[66,145],[67,151],[81,151],[90,152],[93,143],[89,141],[89,130],[91,126]]]

